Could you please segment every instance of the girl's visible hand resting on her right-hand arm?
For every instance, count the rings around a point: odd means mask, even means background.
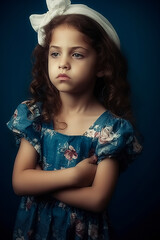
[[[97,157],[93,155],[76,165],[75,173],[77,187],[88,187],[92,185],[97,170],[96,162]]]

